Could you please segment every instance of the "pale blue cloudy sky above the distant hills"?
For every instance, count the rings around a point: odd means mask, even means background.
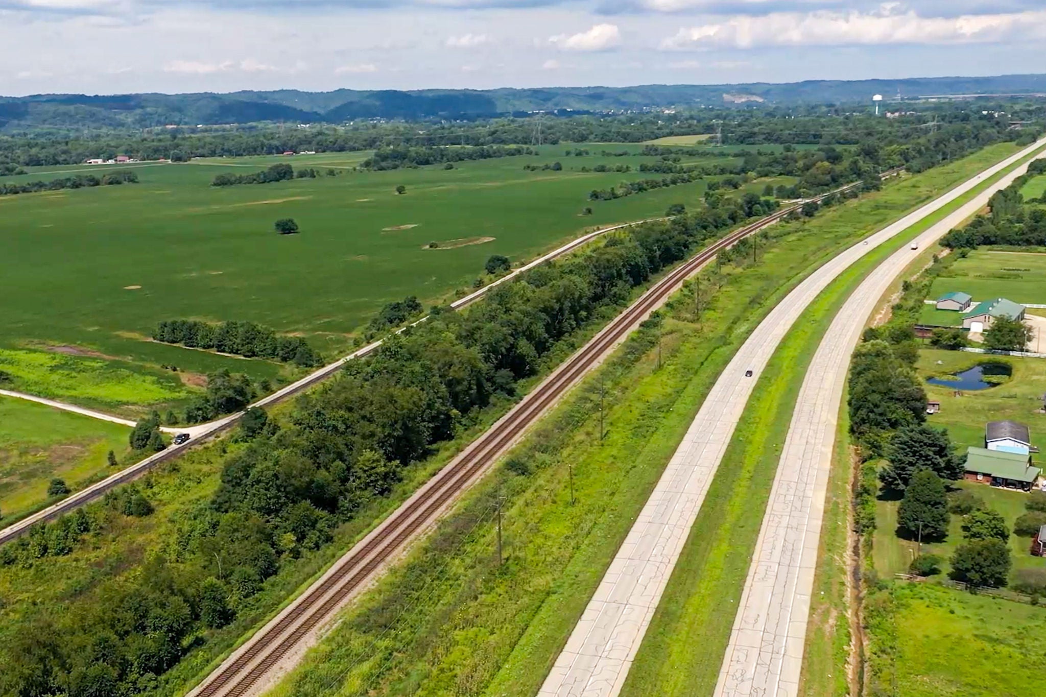
[[[1046,72],[1046,0],[0,0],[0,94]]]

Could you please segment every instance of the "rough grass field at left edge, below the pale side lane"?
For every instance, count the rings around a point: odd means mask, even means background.
[[[73,491],[111,473],[106,455],[128,450],[130,428],[0,397],[0,513],[13,522],[47,503],[51,478]]]

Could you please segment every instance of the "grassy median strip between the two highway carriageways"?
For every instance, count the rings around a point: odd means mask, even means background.
[[[839,306],[862,278],[896,249],[897,242],[906,243],[987,184],[909,228],[897,241],[871,252],[844,272],[808,308],[782,342],[749,400],[622,695],[712,692],[776,471],[780,444],[788,433],[792,405],[820,338]],[[820,584],[824,584],[823,579]],[[815,604],[812,611],[818,617],[822,608]],[[838,653],[836,637],[825,633],[825,640],[832,647],[824,652]],[[692,651],[690,647],[699,643],[704,649]]]

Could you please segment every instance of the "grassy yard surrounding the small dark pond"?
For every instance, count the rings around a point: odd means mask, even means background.
[[[1038,411],[1046,394],[1046,358],[988,356],[925,348],[919,351],[916,370],[924,378],[940,377],[981,363],[1007,364],[1014,374],[1003,385],[963,392],[961,397],[956,397],[955,390],[951,388],[925,384],[927,396],[940,402],[940,413],[929,416],[928,423],[948,428],[952,440],[963,447],[983,447],[984,424],[1013,419],[1027,423],[1031,428],[1032,445],[1046,452],[1046,414]],[[1043,466],[1042,457],[1036,456],[1039,466]]]

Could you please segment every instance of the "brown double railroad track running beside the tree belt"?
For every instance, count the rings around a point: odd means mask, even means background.
[[[884,172],[883,177],[897,171]],[[857,186],[860,184],[851,184],[835,192]],[[814,201],[820,201],[824,195]],[[395,558],[407,543],[431,526],[545,411],[650,317],[683,281],[714,259],[719,252],[777,223],[801,206],[789,206],[726,235],[655,283],[346,553],[293,604],[229,656],[187,697],[240,697],[248,694],[286,655],[297,649],[302,640],[329,620],[386,562]]]

